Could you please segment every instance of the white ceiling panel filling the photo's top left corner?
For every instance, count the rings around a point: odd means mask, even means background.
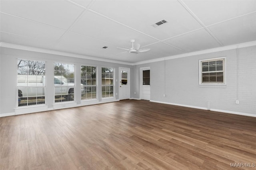
[[[63,0],[1,0],[1,12],[68,29],[84,9]]]

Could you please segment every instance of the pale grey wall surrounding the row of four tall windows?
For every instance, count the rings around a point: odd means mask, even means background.
[[[31,59],[46,61],[46,106],[21,108],[16,107],[17,101],[17,59]],[[54,62],[70,63],[76,65],[76,102],[66,104],[54,104]],[[133,66],[117,63],[107,63],[88,59],[66,57],[62,55],[52,55],[46,53],[25,51],[1,47],[0,55],[0,116],[15,115],[22,113],[32,113],[36,111],[46,111],[66,107],[76,107],[88,104],[98,104],[102,102],[113,102],[118,100],[118,95],[114,99],[98,99],[95,101],[81,102],[80,98],[80,67],[81,65],[97,66],[98,77],[101,77],[101,67],[115,68],[115,78],[118,81],[118,67],[133,68]],[[101,79],[99,79],[101,80]],[[98,94],[101,94],[101,81],[98,81]],[[115,93],[118,93],[118,84],[115,86]]]

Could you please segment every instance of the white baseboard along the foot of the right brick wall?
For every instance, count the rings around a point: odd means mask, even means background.
[[[175,106],[183,106],[183,107],[191,107],[191,108],[195,108],[195,109],[207,110],[207,107],[198,107],[198,106],[190,106],[190,105],[184,105],[184,104],[175,104],[175,103],[169,103],[169,102],[160,102],[160,101],[155,101],[155,100],[150,100],[150,102],[156,102],[156,103],[162,103],[162,104],[170,104],[170,105],[175,105]],[[210,111],[218,111],[218,112],[223,112],[223,113],[230,113],[230,114],[236,114],[236,115],[256,117],[256,115],[254,115],[254,114],[241,113],[241,112],[228,111],[228,110],[210,109]]]

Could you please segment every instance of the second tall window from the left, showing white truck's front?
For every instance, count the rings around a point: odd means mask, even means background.
[[[55,103],[74,101],[75,65],[54,63]]]

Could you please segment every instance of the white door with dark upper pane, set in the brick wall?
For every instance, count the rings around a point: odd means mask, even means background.
[[[150,100],[150,67],[140,68],[140,99]]]

